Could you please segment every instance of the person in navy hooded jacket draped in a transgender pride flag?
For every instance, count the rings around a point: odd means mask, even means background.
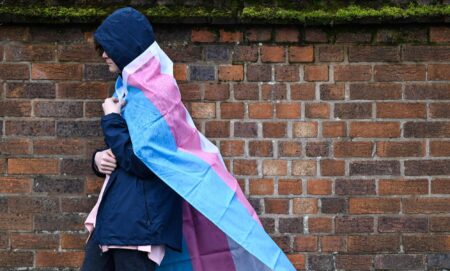
[[[146,17],[119,9],[94,38],[120,69],[114,97],[126,101],[102,117],[117,168],[86,221],[95,245],[162,251],[156,270],[295,270],[196,129]]]

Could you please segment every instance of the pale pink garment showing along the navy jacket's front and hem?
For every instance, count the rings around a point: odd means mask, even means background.
[[[95,222],[97,218],[97,212],[98,212],[98,206],[100,206],[100,202],[103,198],[103,192],[105,190],[106,185],[108,184],[109,176],[106,176],[105,182],[103,183],[102,190],[100,191],[100,195],[98,197],[97,203],[95,204],[94,208],[92,208],[92,211],[89,213],[86,221],[84,222],[84,226],[89,231],[89,237],[91,236],[91,233],[94,231],[95,228]],[[88,237],[88,240],[89,240]],[[113,248],[120,248],[120,249],[135,249],[139,251],[148,252],[148,258],[158,265],[161,264],[164,254],[165,254],[165,247],[164,246],[100,246],[103,252],[108,251],[109,249]]]

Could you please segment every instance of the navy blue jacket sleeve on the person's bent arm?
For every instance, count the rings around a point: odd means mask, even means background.
[[[116,156],[117,164],[130,174],[150,178],[155,174],[134,154],[128,126],[121,115],[111,113],[101,121],[106,144]]]

